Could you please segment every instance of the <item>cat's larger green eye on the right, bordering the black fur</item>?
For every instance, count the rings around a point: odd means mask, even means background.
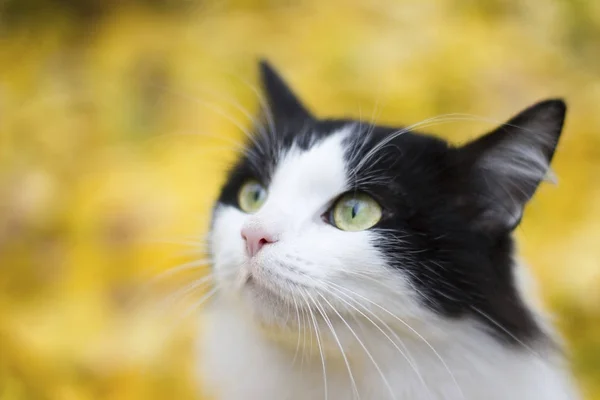
[[[343,231],[364,231],[381,219],[381,206],[364,193],[347,193],[334,205],[333,224]]]

